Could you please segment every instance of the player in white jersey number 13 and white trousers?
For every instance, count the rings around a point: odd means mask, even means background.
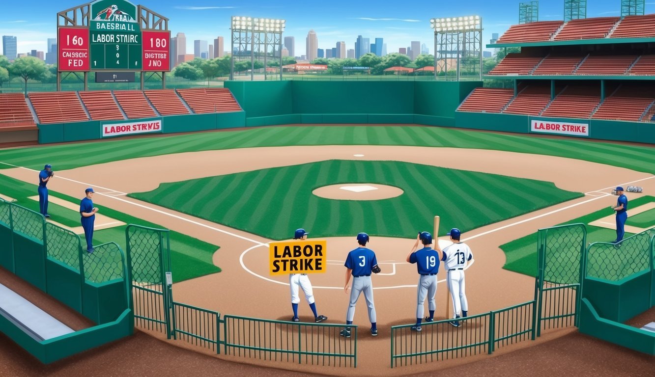
[[[451,236],[453,244],[443,248],[441,260],[444,262],[443,267],[448,272],[446,283],[453,298],[453,318],[455,320],[449,323],[459,327],[460,314],[462,317],[466,317],[468,312],[468,301],[464,291],[464,267],[468,262],[473,263],[473,253],[466,243],[460,241],[462,232],[458,228],[452,228],[447,236]]]

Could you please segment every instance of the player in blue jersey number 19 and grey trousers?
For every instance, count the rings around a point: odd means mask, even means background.
[[[419,241],[423,248],[417,250]],[[437,293],[437,272],[439,272],[440,251],[432,249],[432,234],[421,232],[416,238],[414,246],[407,254],[407,262],[416,263],[419,272],[419,285],[417,288],[417,305],[416,305],[416,325],[411,327],[412,331],[421,331],[421,320],[424,314],[423,303],[426,296],[428,297],[428,310],[430,316],[425,318],[426,322],[434,321],[434,311],[437,309],[437,303],[434,295]]]

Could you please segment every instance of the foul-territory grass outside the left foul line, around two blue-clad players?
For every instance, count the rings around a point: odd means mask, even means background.
[[[6,175],[0,175],[0,193],[16,199],[16,204],[29,209],[39,211],[39,202],[28,199],[29,196],[36,194],[36,184],[30,185],[23,181],[18,181]],[[73,198],[60,192],[50,190],[50,195],[57,196],[71,203],[77,204],[81,198]],[[130,215],[126,215],[120,211],[102,206],[102,196],[96,197],[94,205],[100,209],[100,213],[107,215],[113,219],[117,219],[126,224],[138,224],[141,226],[149,226],[151,228],[162,228],[157,224],[143,221]],[[81,226],[79,212],[72,211],[65,207],[56,206],[52,203],[48,205],[48,212],[52,217],[51,220],[58,223],[65,224],[66,226]],[[93,233],[94,245],[100,245],[106,242],[118,243],[123,251],[126,251],[125,228],[127,226],[117,226],[115,228],[96,230]],[[84,235],[81,235],[82,244],[84,243]],[[173,280],[182,281],[186,279],[197,278],[207,274],[214,274],[220,272],[221,269],[214,265],[212,256],[219,247],[211,243],[203,242],[181,234],[178,232],[170,231],[170,251],[171,263],[173,265]]]

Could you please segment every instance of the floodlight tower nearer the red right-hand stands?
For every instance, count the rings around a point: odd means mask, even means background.
[[[438,68],[448,77],[449,59],[457,59],[457,81],[462,71],[479,73],[482,80],[482,18],[480,16],[432,18],[434,77]],[[437,58],[439,56],[439,58]]]

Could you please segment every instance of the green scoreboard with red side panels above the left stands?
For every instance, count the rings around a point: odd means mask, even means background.
[[[137,19],[129,1],[93,1],[88,28],[58,28],[58,70],[169,71],[170,31],[141,31]]]

